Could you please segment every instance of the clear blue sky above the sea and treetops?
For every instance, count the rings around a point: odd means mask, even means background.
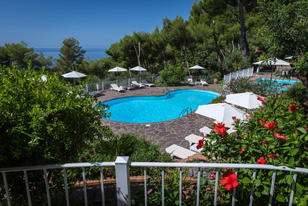
[[[133,31],[161,29],[162,19],[188,19],[193,0],[1,2],[0,46],[21,40],[29,47],[60,48],[75,37],[83,48],[108,48]]]

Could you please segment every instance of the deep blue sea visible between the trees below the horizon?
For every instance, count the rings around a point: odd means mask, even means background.
[[[84,57],[89,57],[90,60],[98,60],[103,57],[107,57],[108,55],[105,53],[106,49],[99,49],[99,48],[83,48],[83,50],[86,50],[86,53],[84,54]],[[35,53],[42,52],[45,57],[51,56],[54,59],[59,58],[59,48],[34,48]]]

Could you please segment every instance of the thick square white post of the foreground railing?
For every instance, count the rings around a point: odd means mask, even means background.
[[[131,205],[129,181],[129,157],[117,157],[115,160],[115,178],[118,206]]]

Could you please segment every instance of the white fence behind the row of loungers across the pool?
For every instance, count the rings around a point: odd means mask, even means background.
[[[120,86],[122,82],[124,82],[127,85],[132,85],[132,81],[142,83],[141,80],[146,80],[150,84],[154,84],[158,78],[159,78],[158,76],[152,76],[152,77],[122,79],[109,82],[98,82],[98,83],[86,84],[83,88],[86,89],[88,92],[98,92],[98,91],[110,90],[111,84],[116,84],[117,86]],[[193,82],[198,82],[200,81],[200,79],[205,79],[205,81],[208,83],[214,82],[214,78],[212,76],[186,76],[184,79],[181,80],[181,83],[186,83],[187,79],[193,79]]]

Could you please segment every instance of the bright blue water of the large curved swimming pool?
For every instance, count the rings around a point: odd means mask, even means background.
[[[204,90],[174,90],[162,96],[136,96],[111,99],[103,102],[110,109],[110,120],[129,123],[150,123],[173,120],[183,109],[196,110],[208,104],[219,94]],[[97,105],[99,107],[99,105]]]

